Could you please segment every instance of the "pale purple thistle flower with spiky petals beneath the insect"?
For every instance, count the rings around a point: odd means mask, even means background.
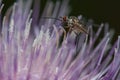
[[[120,36],[111,45],[113,32],[107,24],[96,32],[90,25],[89,36],[81,34],[75,44],[76,36],[71,33],[58,47],[60,26],[53,24],[55,20],[38,20],[37,1],[32,11],[31,0],[19,0],[2,20],[0,80],[119,80]],[[68,14],[66,1],[60,9],[57,2],[54,10],[53,3],[48,3],[42,16]]]

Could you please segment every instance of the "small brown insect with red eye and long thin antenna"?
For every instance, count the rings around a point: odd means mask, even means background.
[[[48,18],[48,19],[56,19],[61,21],[62,27],[64,28],[65,36],[67,33],[71,33],[72,31],[75,32],[75,34],[79,33],[85,33],[88,34],[88,31],[85,29],[85,25],[75,16],[70,17],[60,17],[60,18],[53,18],[53,17],[42,17],[42,18]]]

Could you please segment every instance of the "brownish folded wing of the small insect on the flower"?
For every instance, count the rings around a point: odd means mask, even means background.
[[[88,34],[88,31],[84,28],[84,25],[82,24],[74,24],[73,30],[77,33],[85,33]]]

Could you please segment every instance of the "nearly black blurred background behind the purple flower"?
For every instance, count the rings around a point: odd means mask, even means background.
[[[4,11],[14,1],[3,0]],[[46,0],[41,1],[44,4],[46,2]],[[70,15],[78,16],[81,14],[87,19],[93,19],[96,24],[108,22],[110,28],[115,30],[114,40],[120,35],[120,0],[70,0],[69,5],[72,8]]]

